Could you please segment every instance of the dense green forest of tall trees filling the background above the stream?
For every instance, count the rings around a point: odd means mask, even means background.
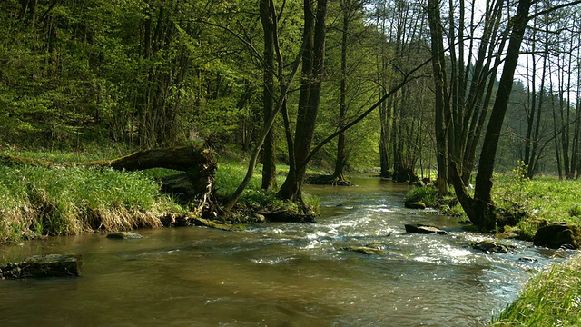
[[[212,144],[299,202],[309,165],[438,172],[466,211],[493,169],[578,178],[577,3],[8,0],[0,144]]]

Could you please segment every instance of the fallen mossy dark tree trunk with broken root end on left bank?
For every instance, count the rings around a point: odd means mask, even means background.
[[[182,146],[174,148],[153,149],[127,154],[113,160],[99,160],[84,163],[54,163],[42,159],[25,158],[11,154],[0,154],[0,164],[37,165],[42,167],[111,167],[115,170],[146,170],[166,168],[184,173],[162,178],[162,192],[172,193],[182,202],[195,203],[202,216],[215,217],[214,180],[217,162],[211,150],[202,147]]]

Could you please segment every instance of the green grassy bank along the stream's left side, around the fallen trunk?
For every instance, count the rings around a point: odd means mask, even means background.
[[[83,153],[20,152],[3,153],[52,162],[85,162],[114,158],[127,150],[100,149]],[[248,164],[242,155],[220,154],[216,173],[219,200],[225,201],[241,183]],[[288,166],[277,167],[278,183],[284,181]],[[119,172],[90,167],[44,168],[5,166],[0,163],[0,245],[17,243],[45,235],[70,235],[89,231],[120,231],[140,227],[160,227],[160,216],[186,212],[170,195],[161,193],[158,177],[175,173],[165,169]],[[305,195],[312,207],[318,200]],[[294,203],[275,198],[261,190],[261,166],[242,193],[231,223],[240,223],[245,213],[257,208],[296,210]]]

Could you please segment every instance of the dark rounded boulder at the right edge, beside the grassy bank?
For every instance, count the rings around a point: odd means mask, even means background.
[[[581,246],[581,229],[570,223],[549,223],[537,229],[533,244],[552,249],[563,246],[578,249]]]

